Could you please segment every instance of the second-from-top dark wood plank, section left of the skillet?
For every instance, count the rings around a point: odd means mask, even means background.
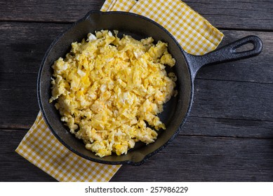
[[[47,48],[70,25],[0,23],[0,73],[38,73]]]

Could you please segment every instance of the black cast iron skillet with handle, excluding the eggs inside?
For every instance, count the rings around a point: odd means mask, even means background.
[[[101,29],[116,29],[121,36],[122,34],[128,34],[138,39],[152,36],[155,42],[160,40],[168,43],[168,50],[176,59],[176,64],[167,71],[175,72],[178,77],[176,82],[178,96],[173,97],[165,104],[164,112],[159,114],[159,118],[166,124],[166,130],[159,132],[158,139],[149,145],[136,144],[135,148],[128,151],[127,155],[110,155],[105,158],[99,158],[91,151],[86,150],[83,141],[70,134],[67,127],[60,121],[60,115],[55,109],[54,103],[48,103],[48,99],[51,97],[51,77],[53,73],[51,66],[54,61],[58,57],[65,57],[65,54],[71,48],[72,42],[81,41],[86,38],[89,32]],[[237,52],[237,48],[247,43],[253,44],[252,50]],[[258,55],[261,50],[262,41],[260,38],[246,36],[204,56],[189,55],[166,29],[152,20],[133,13],[91,11],[58,36],[48,48],[38,76],[39,106],[50,130],[70,151],[87,160],[105,164],[141,165],[147,158],[167,146],[182,129],[192,106],[194,77],[201,66],[253,57]]]

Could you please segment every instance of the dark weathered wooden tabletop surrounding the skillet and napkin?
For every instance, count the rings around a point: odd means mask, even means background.
[[[15,153],[39,106],[36,78],[58,34],[103,0],[0,0],[0,181],[55,181]],[[225,34],[255,34],[258,57],[202,68],[184,129],[112,181],[273,181],[273,1],[185,1]]]

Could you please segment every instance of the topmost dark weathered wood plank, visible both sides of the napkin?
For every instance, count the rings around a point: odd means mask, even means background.
[[[0,1],[0,20],[74,22],[89,10],[99,10],[104,0]],[[273,29],[273,1],[187,1],[215,27]],[[266,21],[266,22],[265,22]]]

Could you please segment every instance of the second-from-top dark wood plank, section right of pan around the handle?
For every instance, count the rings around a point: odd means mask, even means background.
[[[259,36],[263,43],[262,52],[257,57],[236,62],[204,66],[197,78],[214,80],[238,80],[253,83],[273,83],[273,38],[272,32],[260,31],[222,31],[225,34],[219,48],[248,35]]]

